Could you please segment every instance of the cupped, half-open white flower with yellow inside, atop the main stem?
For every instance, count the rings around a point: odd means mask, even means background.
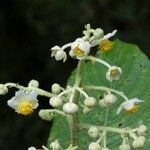
[[[91,45],[81,38],[76,39],[72,45],[69,55],[79,60],[84,59],[90,53]]]

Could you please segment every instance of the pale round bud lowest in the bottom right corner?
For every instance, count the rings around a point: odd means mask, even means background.
[[[145,144],[145,137],[139,136],[137,139],[135,139],[132,143],[133,148],[142,148]]]

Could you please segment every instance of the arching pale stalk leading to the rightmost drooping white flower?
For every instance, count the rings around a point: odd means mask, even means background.
[[[123,94],[123,92],[117,91],[115,89],[103,87],[103,86],[85,86],[85,90],[98,90],[98,91],[108,91],[110,90],[112,93],[120,95],[125,101],[129,101],[129,98]]]

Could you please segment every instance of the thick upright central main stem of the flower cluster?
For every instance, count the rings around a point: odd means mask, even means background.
[[[74,88],[80,87],[81,84],[81,68],[82,68],[82,61],[78,62],[77,71],[76,71],[76,78],[75,78],[75,84]],[[74,90],[73,102],[78,105],[78,98],[79,98],[79,92],[77,90]],[[78,113],[75,113],[70,116],[69,119],[69,126],[70,126],[70,134],[71,134],[71,144],[72,146],[78,145]]]

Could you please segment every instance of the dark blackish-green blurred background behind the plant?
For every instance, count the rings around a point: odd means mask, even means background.
[[[149,0],[0,0],[0,83],[36,79],[46,90],[54,82],[64,86],[76,62],[56,62],[49,49],[80,37],[87,23],[105,33],[118,29],[116,38],[150,56],[149,19]],[[14,91],[0,96],[0,150],[46,144],[52,123],[37,114],[49,108],[48,99],[39,97],[38,110],[23,117],[7,107]]]

